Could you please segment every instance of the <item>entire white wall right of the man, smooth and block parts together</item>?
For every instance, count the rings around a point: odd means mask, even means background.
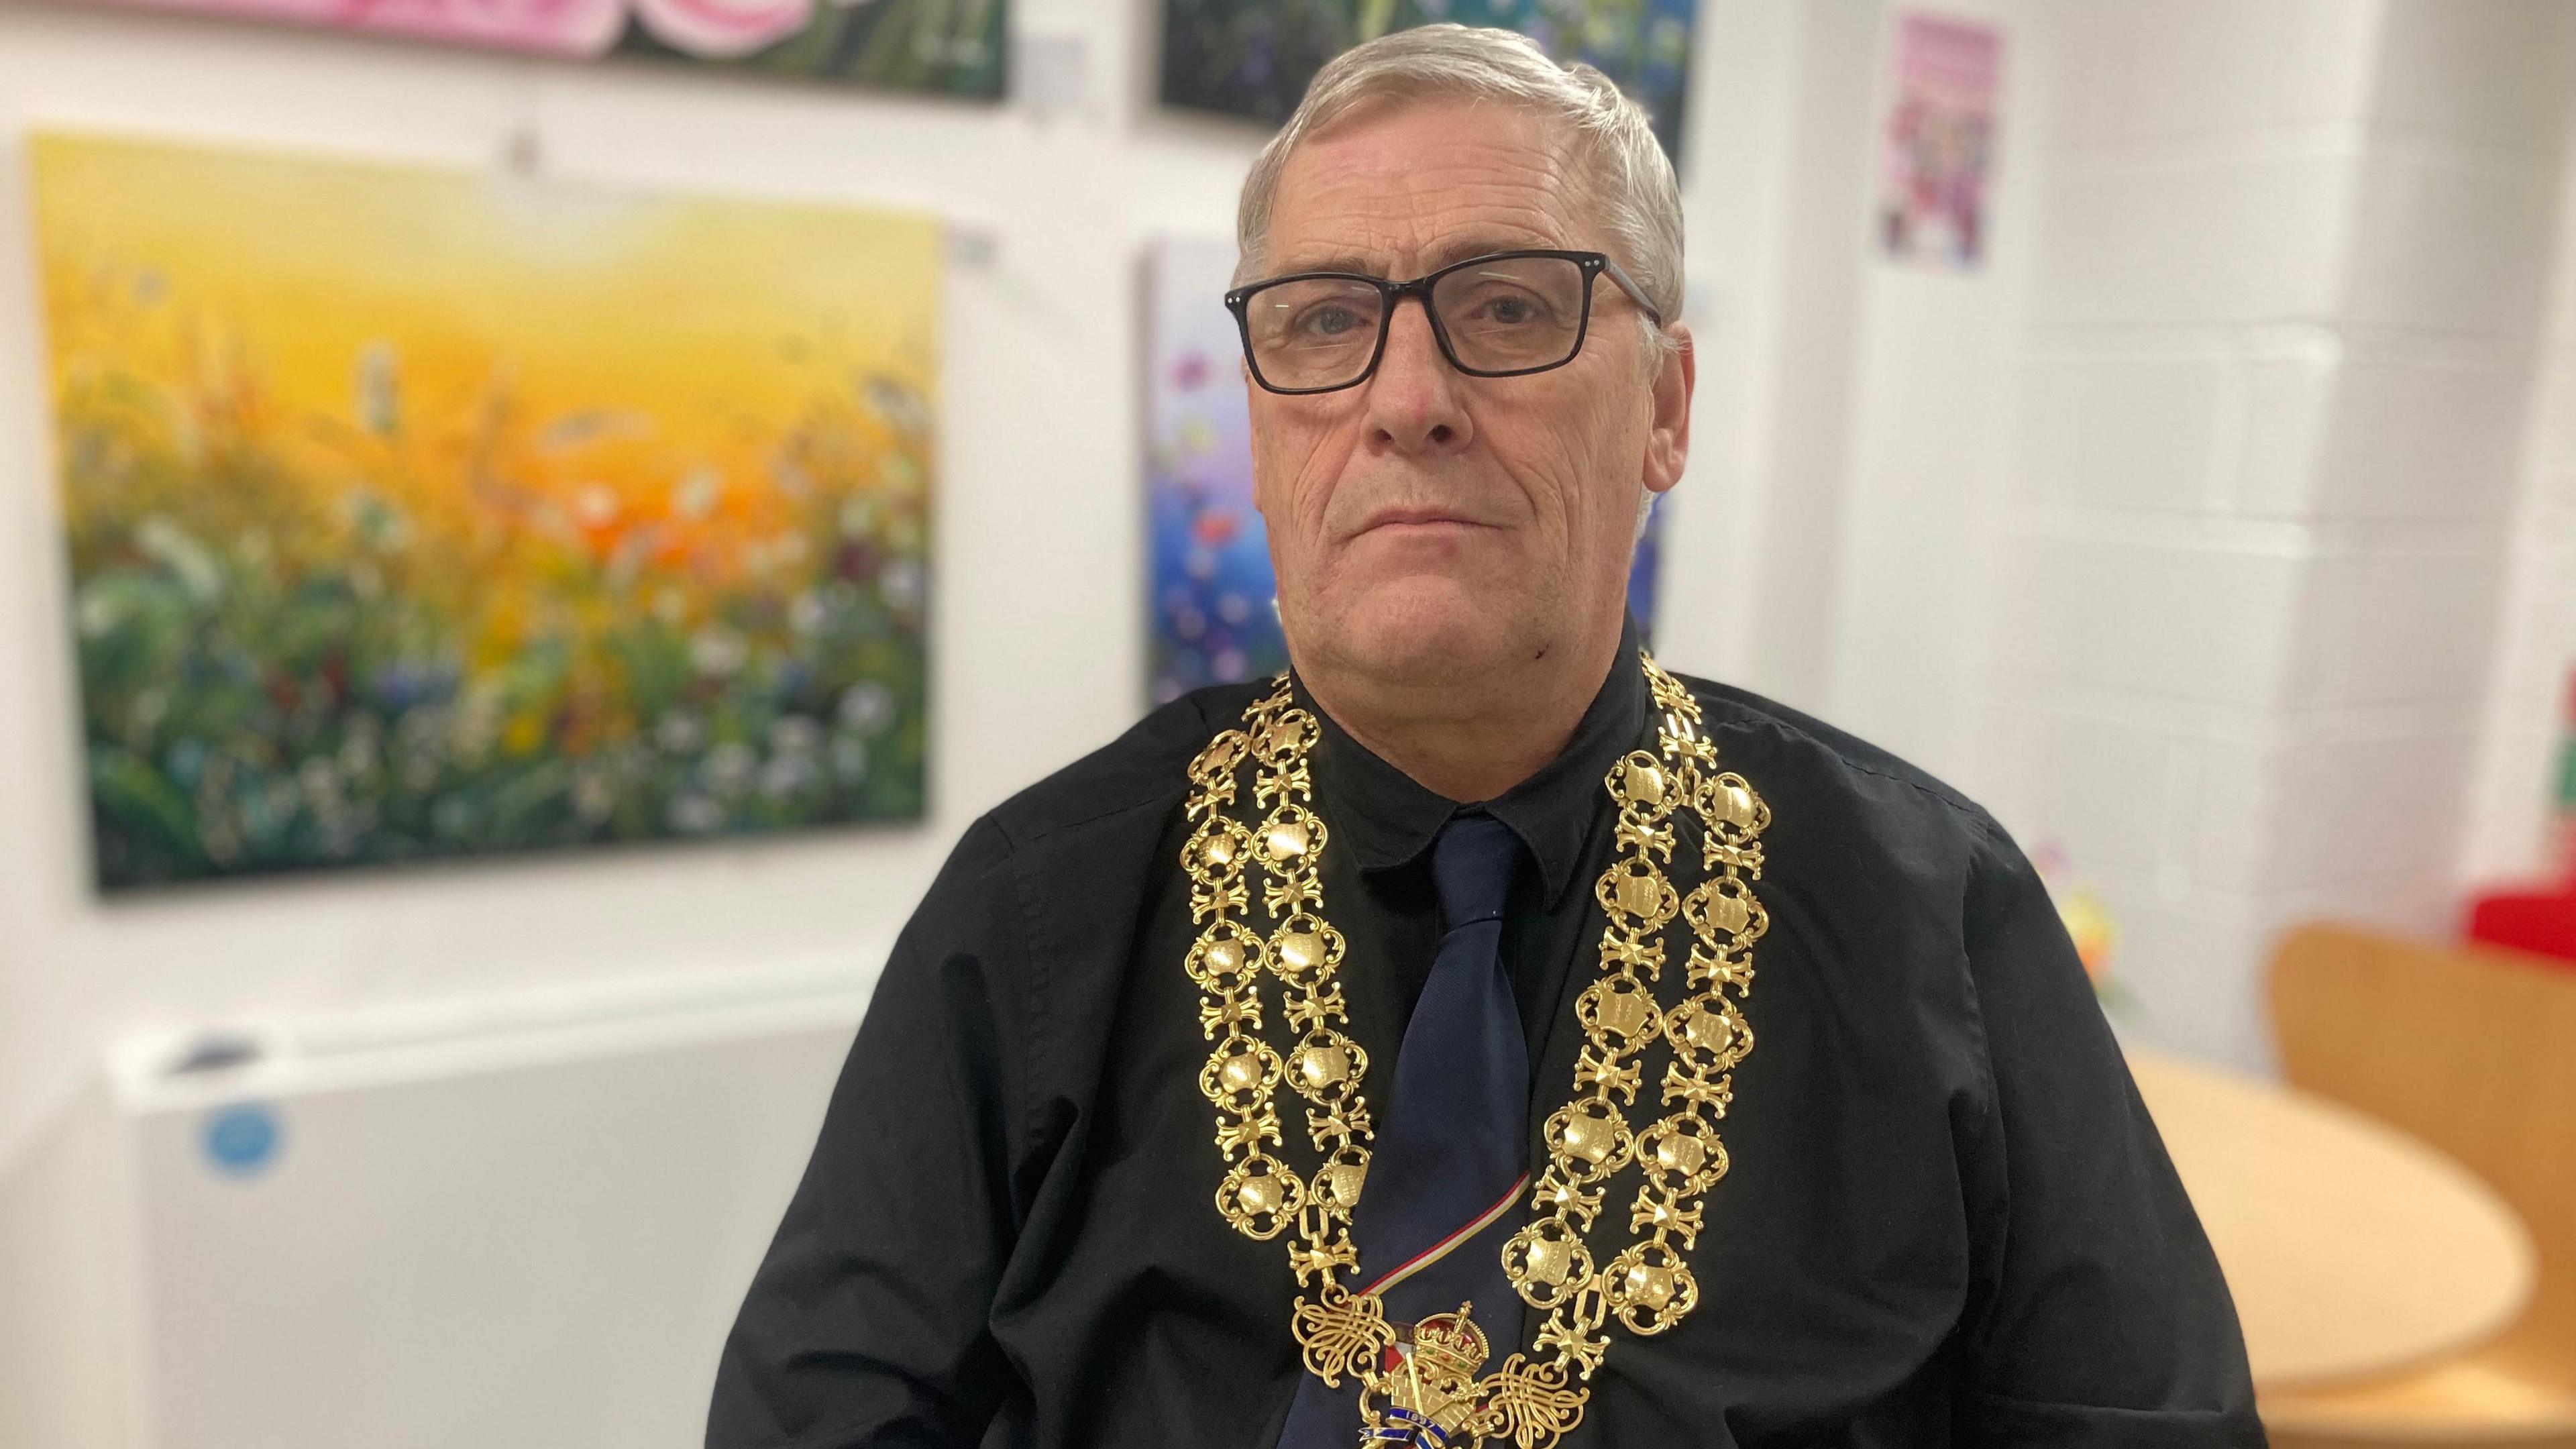
[[[1940,8],[2007,39],[1965,276],[1868,250],[1896,5],[1762,34],[1744,431],[1690,554],[1744,583],[1713,668],[2061,846],[2123,931],[2120,1026],[2262,1067],[2285,926],[2447,933],[2537,851],[2576,652],[2576,245],[2540,358],[2576,13]]]

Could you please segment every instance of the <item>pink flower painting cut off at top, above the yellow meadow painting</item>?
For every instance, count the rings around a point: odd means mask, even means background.
[[[559,59],[641,54],[1002,95],[1010,0],[88,0]]]

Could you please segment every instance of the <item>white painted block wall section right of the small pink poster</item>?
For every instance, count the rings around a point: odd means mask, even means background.
[[[2045,10],[1989,740],[2148,1039],[2262,1062],[2282,926],[2452,923],[2568,18]]]

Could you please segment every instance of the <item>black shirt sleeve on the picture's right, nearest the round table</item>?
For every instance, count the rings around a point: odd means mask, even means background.
[[[1965,902],[1991,1104],[1960,1444],[2262,1446],[2236,1305],[2084,964],[1984,825]]]

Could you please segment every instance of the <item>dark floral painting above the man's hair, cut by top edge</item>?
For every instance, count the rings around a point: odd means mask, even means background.
[[[1285,121],[1327,59],[1432,21],[1502,26],[1600,67],[1682,155],[1698,0],[1164,0],[1162,103]]]

